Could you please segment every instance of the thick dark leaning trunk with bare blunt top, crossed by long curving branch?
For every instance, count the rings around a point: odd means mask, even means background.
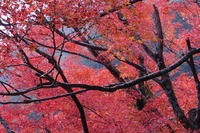
[[[163,57],[163,47],[164,47],[163,31],[158,9],[155,5],[153,5],[153,7],[154,7],[153,20],[155,23],[155,30],[157,32],[157,38],[158,38],[156,54],[153,55],[153,59],[155,60],[159,70],[162,70],[166,68]],[[174,114],[176,115],[176,117],[178,118],[178,120],[184,126],[185,129],[193,128],[189,119],[186,117],[183,110],[178,104],[169,74],[167,73],[165,75],[162,75],[161,78],[162,79],[159,84],[163,88],[165,94],[167,95],[168,101],[173,109]]]

